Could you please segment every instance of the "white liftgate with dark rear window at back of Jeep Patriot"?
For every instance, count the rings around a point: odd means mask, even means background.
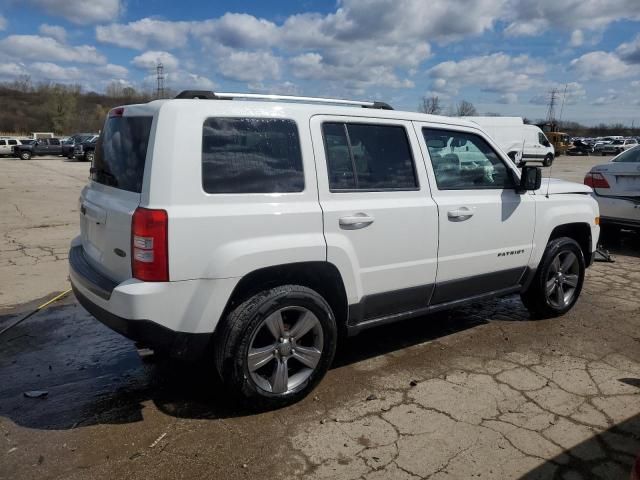
[[[115,281],[131,278],[131,218],[140,204],[153,117],[107,119],[82,191],[80,230],[85,258]]]

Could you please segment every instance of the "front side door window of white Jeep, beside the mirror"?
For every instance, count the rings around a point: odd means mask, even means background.
[[[422,130],[440,190],[513,188],[505,163],[481,137],[449,130]]]

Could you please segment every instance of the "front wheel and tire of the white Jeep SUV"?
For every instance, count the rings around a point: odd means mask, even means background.
[[[584,273],[580,245],[568,237],[551,240],[531,285],[520,294],[522,303],[534,318],[564,315],[580,296]]]

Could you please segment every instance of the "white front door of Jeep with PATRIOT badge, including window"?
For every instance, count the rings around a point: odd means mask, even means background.
[[[439,210],[438,275],[431,303],[518,285],[533,245],[535,202],[478,130],[416,124]]]

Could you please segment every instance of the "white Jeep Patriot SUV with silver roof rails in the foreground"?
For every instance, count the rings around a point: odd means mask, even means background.
[[[70,277],[112,329],[279,406],[341,334],[516,292],[567,312],[599,235],[590,192],[541,187],[465,120],[183,92],[109,113]]]

